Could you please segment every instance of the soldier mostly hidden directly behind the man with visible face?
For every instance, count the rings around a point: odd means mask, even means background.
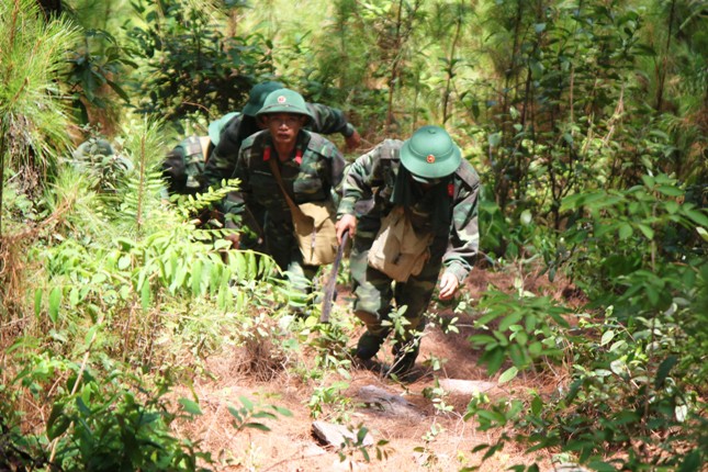
[[[210,156],[206,167],[204,169],[204,186],[202,190],[210,187],[218,188],[222,180],[231,179],[234,175],[236,159],[238,157],[238,149],[244,139],[257,133],[259,130],[266,127],[262,120],[257,119],[257,112],[262,108],[266,97],[274,90],[282,89],[283,85],[280,82],[269,81],[255,86],[248,97],[248,103],[244,106],[243,113],[233,117],[224,127],[222,139],[218,146],[215,147],[214,153]],[[335,134],[340,133],[347,143],[347,147],[356,148],[359,146],[361,137],[357,130],[348,123],[341,110],[333,109],[319,103],[305,104],[308,116],[308,123],[305,127],[318,134]],[[231,198],[227,198],[218,210],[224,214],[231,213],[229,203]],[[263,207],[257,202],[249,205],[250,215],[248,215],[249,226],[252,233],[259,233],[260,227],[263,225],[265,215]],[[236,227],[234,222],[226,220],[226,227]],[[241,247],[245,241],[241,241]],[[254,247],[247,244],[248,247]]]

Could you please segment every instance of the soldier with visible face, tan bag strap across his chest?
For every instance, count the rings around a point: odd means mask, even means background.
[[[300,93],[276,90],[256,115],[266,130],[245,138],[240,146],[234,178],[241,183],[228,209],[237,215],[254,204],[266,210],[265,251],[286,271],[294,291],[306,293],[317,268],[303,263],[291,210],[271,165],[279,169],[290,199],[302,204],[331,201],[331,189],[341,182],[345,161],[333,143],[304,130],[314,117]]]

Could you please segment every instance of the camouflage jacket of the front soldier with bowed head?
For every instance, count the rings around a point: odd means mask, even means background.
[[[345,214],[355,215],[356,209],[360,207],[357,203],[372,199],[372,203],[367,205],[361,218],[381,220],[391,212],[393,209],[391,196],[401,166],[398,151],[402,145],[401,141],[386,139],[351,165],[342,184],[344,194],[337,211],[338,217]],[[446,271],[453,273],[460,282],[472,270],[479,251],[479,191],[480,178],[472,166],[463,159],[448,183],[451,213],[448,246],[442,256]],[[422,221],[432,220],[432,206],[425,203],[420,199],[408,209],[416,229],[425,226]]]

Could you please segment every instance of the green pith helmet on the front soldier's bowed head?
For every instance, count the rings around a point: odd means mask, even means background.
[[[462,153],[440,126],[422,126],[401,148],[401,164],[414,179],[427,182],[454,172]]]

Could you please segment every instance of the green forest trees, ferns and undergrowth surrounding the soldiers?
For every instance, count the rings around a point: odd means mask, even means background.
[[[346,306],[292,318],[272,260],[198,225],[237,181],[164,198],[167,151],[263,80],[346,111],[358,154],[445,126],[481,176],[471,277],[513,284],[437,301],[429,324],[473,319],[488,380],[553,389],[473,395],[462,417],[492,440],[458,470],[508,445],[516,471],[706,470],[707,52],[705,0],[0,0],[0,470],[228,469],[176,425],[235,349],[363,438]],[[97,137],[116,153],[72,154]],[[445,360],[418,362],[437,383]],[[228,411],[237,431],[291,414]],[[339,452],[385,464],[386,447]]]

